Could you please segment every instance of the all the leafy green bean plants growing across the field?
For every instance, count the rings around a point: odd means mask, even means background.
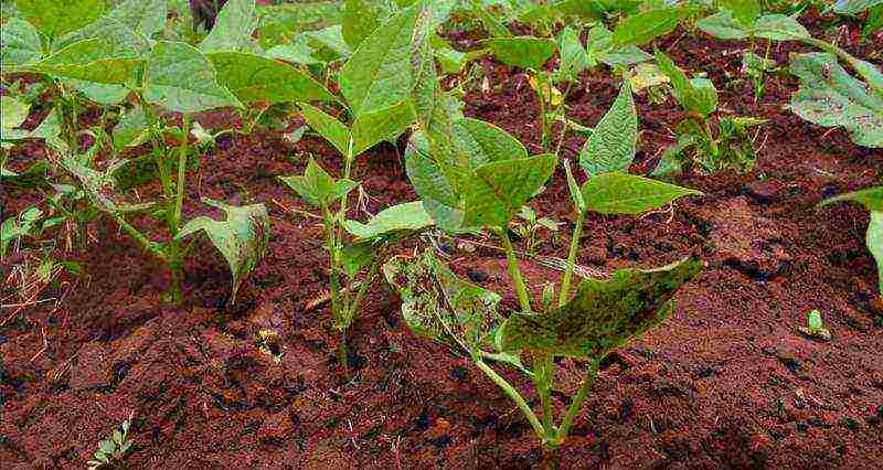
[[[879,3],[862,3],[872,9],[871,30]],[[749,131],[764,125],[725,114],[706,76],[691,76],[662,51],[641,47],[679,25],[745,40],[751,43],[746,61],[759,63],[769,60],[774,41],[817,47],[821,52],[790,58],[790,71],[800,79],[790,108],[811,122],[847,129],[857,145],[883,147],[880,70],[812,38],[794,14],[765,12],[759,1],[347,0],[257,7],[254,0],[230,0],[211,22],[184,7],[167,0],[125,0],[109,9],[102,0],[4,3],[0,178],[4,186],[42,194],[45,205],[3,221],[3,255],[12,243],[60,227],[72,229],[85,246],[89,224],[108,217],[168,269],[167,297],[179,302],[183,261],[198,239],[193,235],[204,233],[230,266],[232,303],[266,252],[269,217],[263,204],[204,200],[224,217],[187,220],[190,175],[216,137],[194,117],[232,110],[245,122],[228,130],[236,133],[299,116],[306,126],[289,138],[309,130],[341,157],[340,168],[325,169],[309,159],[304,174],[279,177],[313,210],[305,216],[323,227],[341,367],[348,370],[347,332],[366,292],[383,277],[398,292],[409,328],[468,355],[518,405],[547,449],[570,432],[602,359],[664,320],[677,291],[703,267],[688,258],[657,269],[618,270],[605,279],[579,276],[576,255],[587,221],[701,196],[653,178],[751,170]],[[857,2],[833,8],[860,12]],[[512,34],[508,24],[513,21],[534,35]],[[439,35],[450,22],[475,22],[488,36],[477,50],[456,51]],[[210,31],[200,30],[212,23]],[[760,40],[767,41],[766,57],[752,52]],[[464,116],[465,81],[443,88],[445,74],[478,74],[474,61],[483,55],[529,75],[540,108],[542,153],[530,154],[504,130]],[[603,67],[618,78],[619,93],[588,128],[567,117],[565,103],[584,74]],[[751,70],[752,79],[760,74],[763,82],[763,67]],[[653,178],[628,172],[639,136],[636,93],[660,105],[671,95],[684,111],[683,120],[672,122],[677,142]],[[24,130],[32,108],[45,117]],[[81,121],[86,109],[99,110],[97,124]],[[588,136],[574,156],[582,174],[574,174],[564,157],[568,132]],[[421,200],[368,221],[351,220],[359,160],[403,135],[404,167]],[[44,143],[44,157],[20,172],[7,169],[10,150],[31,141]],[[576,222],[560,281],[534,299],[510,233],[519,227],[517,217],[538,223],[528,204],[557,170],[566,175]],[[145,202],[137,190],[149,188],[158,189],[156,199]],[[830,202],[840,200],[872,211],[868,243],[874,256],[883,257],[881,189]],[[502,311],[499,292],[454,274],[433,248],[442,233],[489,234],[499,241],[517,311]],[[414,238],[427,242],[424,253],[395,255],[396,244]],[[586,373],[556,420],[551,391],[555,359],[562,356],[584,361]],[[489,365],[493,362],[515,367],[534,384],[540,409],[529,406]]]

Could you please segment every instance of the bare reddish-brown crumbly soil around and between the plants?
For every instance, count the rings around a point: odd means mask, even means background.
[[[450,39],[471,41],[467,32]],[[883,309],[864,244],[868,214],[817,204],[880,181],[883,154],[790,113],[784,104],[797,83],[786,73],[773,74],[755,103],[751,84],[738,79],[743,44],[678,31],[658,45],[682,67],[710,71],[727,113],[769,122],[757,135],[749,174],[683,175],[675,182],[703,197],[639,217],[589,217],[578,253],[585,267],[609,273],[699,255],[708,268],[678,295],[668,321],[605,360],[561,467],[879,468]],[[861,47],[850,52],[863,56]],[[795,51],[806,49],[774,44],[772,54],[787,64]],[[490,88],[468,92],[465,114],[540,152],[526,76],[488,58],[479,68]],[[594,126],[616,90],[609,73],[584,74],[566,100],[568,116]],[[673,143],[668,129],[680,116],[671,100],[636,99],[641,137],[632,171],[641,172]],[[208,128],[237,125],[224,114],[199,119]],[[36,261],[21,252],[2,265],[3,295],[13,300],[0,314],[1,468],[83,467],[130,414],[134,445],[124,464],[131,468],[543,464],[518,408],[468,357],[415,337],[382,279],[348,337],[351,374],[342,373],[340,334],[328,305],[317,305],[328,286],[321,228],[292,213],[306,206],[276,179],[301,173],[310,154],[328,169],[340,159],[316,136],[290,143],[283,135],[224,136],[191,174],[185,218],[219,215],[200,197],[263,202],[270,213],[267,255],[233,305],[227,267],[209,243],[198,244],[185,266],[184,302],[163,302],[162,267],[107,218],[89,226],[87,249],[58,244],[54,253],[78,261],[83,274],[58,274],[31,301],[17,302],[14,293],[28,287],[22,266]],[[577,159],[584,141],[568,133],[562,157]],[[368,197],[351,217],[416,199],[402,148],[384,143],[359,160],[354,177]],[[34,152],[19,151],[12,168]],[[2,203],[12,213],[32,201],[3,191]],[[566,257],[575,216],[561,168],[532,205],[565,224],[558,237],[538,233],[539,254]],[[504,292],[504,256],[488,246],[496,243],[447,241],[445,252],[458,274]],[[534,293],[557,282],[558,273],[523,263]],[[798,331],[813,309],[830,341]],[[264,330],[274,332],[269,340],[258,334]],[[553,396],[561,414],[585,364],[558,365]],[[538,405],[526,381],[494,367]]]

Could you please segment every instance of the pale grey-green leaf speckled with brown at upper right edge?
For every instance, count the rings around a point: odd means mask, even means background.
[[[792,55],[791,73],[800,79],[790,103],[798,116],[823,127],[843,127],[857,145],[883,147],[883,96],[852,77],[837,57]]]

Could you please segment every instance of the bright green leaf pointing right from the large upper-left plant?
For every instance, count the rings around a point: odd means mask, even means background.
[[[332,100],[334,97],[297,67],[244,52],[206,54],[217,82],[243,103]]]

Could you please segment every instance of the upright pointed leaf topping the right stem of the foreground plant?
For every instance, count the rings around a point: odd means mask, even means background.
[[[579,152],[579,165],[592,175],[628,170],[637,142],[638,111],[629,81],[623,81],[619,96]]]

